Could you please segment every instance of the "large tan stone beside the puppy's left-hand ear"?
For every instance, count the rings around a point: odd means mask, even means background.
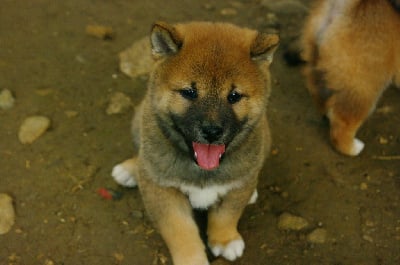
[[[121,72],[132,78],[149,74],[154,65],[149,37],[134,42],[129,48],[120,52],[119,61]]]

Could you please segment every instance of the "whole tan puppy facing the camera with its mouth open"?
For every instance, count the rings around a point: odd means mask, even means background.
[[[138,155],[114,167],[139,187],[175,265],[209,264],[192,208],[208,209],[216,256],[240,257],[238,220],[270,149],[269,65],[279,38],[225,23],[154,24],[156,58],[132,127]]]

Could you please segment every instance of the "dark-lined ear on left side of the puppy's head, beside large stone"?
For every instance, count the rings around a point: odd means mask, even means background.
[[[157,57],[175,54],[182,46],[176,29],[165,22],[156,22],[151,30],[151,48]]]

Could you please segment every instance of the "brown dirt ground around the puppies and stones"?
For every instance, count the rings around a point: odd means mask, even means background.
[[[269,106],[273,154],[260,176],[259,199],[239,224],[244,255],[231,264],[400,264],[400,92],[389,88],[362,127],[366,149],[359,157],[333,151],[300,68],[282,57],[307,6],[306,0],[2,0],[0,91],[10,90],[16,103],[0,110],[0,193],[12,196],[16,223],[0,235],[0,264],[171,264],[138,190],[110,177],[113,165],[133,152],[133,110],[105,112],[114,92],[135,104],[143,96],[146,78],[122,74],[118,53],[156,20],[280,29]],[[86,34],[93,24],[112,27],[114,38]],[[51,128],[23,145],[18,130],[31,115],[49,117]],[[101,187],[123,196],[106,200],[97,193]],[[280,230],[284,212],[309,226]],[[316,228],[327,232],[321,243],[309,240]]]

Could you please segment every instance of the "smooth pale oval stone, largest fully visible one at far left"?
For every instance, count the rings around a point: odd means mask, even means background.
[[[31,144],[50,127],[50,119],[45,116],[30,116],[26,118],[18,132],[18,139],[23,144]]]

